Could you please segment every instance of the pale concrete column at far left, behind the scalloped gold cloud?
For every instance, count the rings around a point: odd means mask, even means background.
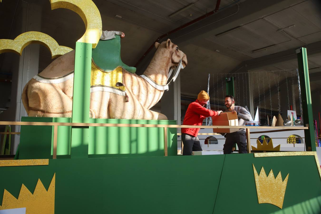
[[[22,25],[22,32],[41,31],[41,7],[36,4],[28,4],[25,1],[22,1],[20,5],[21,13],[16,19],[25,23],[25,25]],[[15,68],[13,69],[11,108],[15,109],[15,111],[12,111],[15,115],[14,121],[21,121],[22,116],[28,116],[22,104],[21,94],[26,83],[38,74],[39,47],[38,44],[25,47],[22,56],[19,58],[19,63],[13,65]],[[20,126],[13,127],[13,132],[20,132]],[[12,139],[13,148],[11,148],[11,153],[15,154],[19,145],[20,135],[16,134]]]

